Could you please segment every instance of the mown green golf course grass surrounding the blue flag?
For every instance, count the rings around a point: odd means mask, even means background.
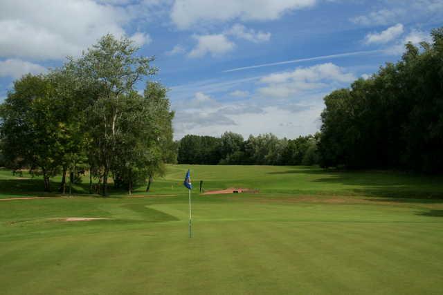
[[[438,294],[443,178],[316,167],[188,166],[152,192],[0,201],[0,294]],[[26,178],[24,173],[24,178]],[[53,187],[60,178],[55,178]],[[84,183],[87,183],[85,178]],[[51,196],[0,171],[0,198]],[[172,196],[171,196],[172,195]],[[61,222],[53,218],[110,220]]]

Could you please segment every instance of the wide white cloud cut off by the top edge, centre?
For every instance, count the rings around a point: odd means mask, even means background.
[[[240,19],[265,21],[280,18],[291,10],[314,6],[316,0],[176,0],[171,19],[178,28],[201,23]]]

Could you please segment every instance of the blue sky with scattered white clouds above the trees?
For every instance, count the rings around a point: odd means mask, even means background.
[[[440,26],[443,0],[0,0],[0,102],[111,33],[155,57],[175,139],[295,138],[320,129],[325,95]]]

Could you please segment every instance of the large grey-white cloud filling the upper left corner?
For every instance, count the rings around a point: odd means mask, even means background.
[[[3,0],[0,8],[0,56],[62,59],[79,55],[108,32],[125,35],[133,19],[124,7],[92,0]],[[132,36],[138,45],[149,35]]]

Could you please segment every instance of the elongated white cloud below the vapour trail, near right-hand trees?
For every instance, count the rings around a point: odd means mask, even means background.
[[[262,77],[267,84],[258,92],[264,97],[290,97],[291,95],[336,88],[349,84],[356,77],[335,64],[318,64],[309,68],[296,68],[291,72],[273,73]]]

